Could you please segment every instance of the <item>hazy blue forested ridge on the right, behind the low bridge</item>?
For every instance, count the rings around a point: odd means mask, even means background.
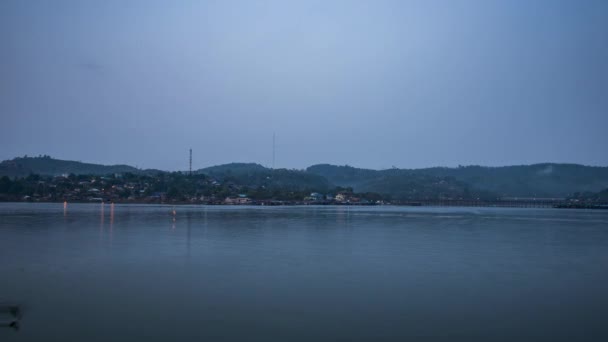
[[[314,165],[308,172],[326,177],[357,191],[390,187],[398,179],[422,176],[447,177],[468,184],[471,189],[500,197],[567,197],[575,192],[597,192],[608,187],[608,167],[577,164],[534,164],[504,167],[464,166],[427,169],[369,170],[328,164]]]

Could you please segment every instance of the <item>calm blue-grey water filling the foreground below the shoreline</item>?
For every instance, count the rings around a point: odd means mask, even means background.
[[[608,211],[0,204],[2,341],[608,341]]]

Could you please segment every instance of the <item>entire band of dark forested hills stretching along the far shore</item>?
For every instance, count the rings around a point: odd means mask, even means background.
[[[336,195],[341,191],[348,192],[347,188],[350,188],[351,193],[357,193],[353,197],[370,200],[602,198],[601,193],[597,192],[608,188],[608,167],[574,164],[436,167],[417,170],[370,170],[322,164],[306,170],[288,170],[269,169],[253,163],[232,163],[200,169],[193,175],[186,175],[180,172],[140,170],[128,165],[104,166],[39,156],[15,158],[0,163],[0,176],[5,176],[0,182],[0,196],[4,199],[34,194],[48,197],[49,193],[60,196],[73,189],[53,177],[68,174],[70,176],[63,179],[72,181],[76,177],[79,181],[88,179],[93,182],[100,179],[101,182],[103,178],[104,186],[107,184],[123,188],[122,192],[112,192],[112,196],[118,198],[140,198],[160,193],[177,201],[200,197],[224,198],[238,194],[254,200],[296,201],[313,192]],[[54,184],[56,181],[58,184]],[[131,183],[131,188],[121,186],[124,183]],[[53,189],[47,189],[43,184],[52,184]],[[134,189],[144,192],[134,194]]]

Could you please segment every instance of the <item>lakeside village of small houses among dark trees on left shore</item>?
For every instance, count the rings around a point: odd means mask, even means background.
[[[337,188],[321,193],[306,190],[266,189],[204,175],[163,173],[156,176],[30,175],[0,178],[0,200],[25,202],[111,202],[208,205],[377,205],[388,201],[378,194],[355,194]]]

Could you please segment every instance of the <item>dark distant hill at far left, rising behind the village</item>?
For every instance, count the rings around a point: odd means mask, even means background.
[[[21,157],[0,163],[0,176],[23,177],[29,174],[58,176],[61,174],[105,175],[111,173],[140,173],[128,165],[99,165],[77,161],[53,159],[49,156]]]

